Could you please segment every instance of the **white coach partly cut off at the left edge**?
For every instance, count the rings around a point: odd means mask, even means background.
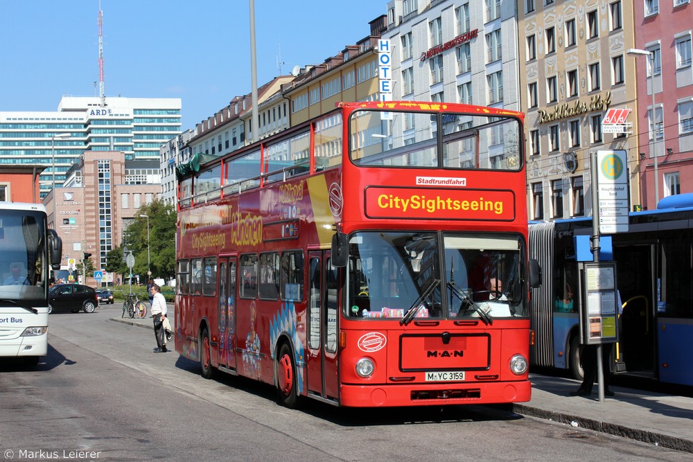
[[[0,202],[0,357],[46,355],[49,258],[57,269],[61,256],[43,205]]]

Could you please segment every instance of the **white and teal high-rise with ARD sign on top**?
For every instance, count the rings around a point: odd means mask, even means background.
[[[96,96],[64,96],[56,112],[0,112],[0,163],[45,166],[44,197],[83,151],[159,159],[161,144],[180,133],[180,110],[179,98],[109,97],[102,106]]]

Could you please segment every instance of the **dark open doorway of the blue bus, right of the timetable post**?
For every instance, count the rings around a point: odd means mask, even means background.
[[[656,369],[656,242],[614,244],[617,288],[623,312],[617,349],[618,372],[644,377]]]

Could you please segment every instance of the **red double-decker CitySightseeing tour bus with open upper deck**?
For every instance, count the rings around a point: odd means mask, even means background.
[[[176,350],[289,407],[528,401],[524,158],[520,113],[401,101],[193,159]]]

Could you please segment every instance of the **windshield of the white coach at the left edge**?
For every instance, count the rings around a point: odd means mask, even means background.
[[[45,214],[0,210],[0,301],[45,305],[48,265]]]

